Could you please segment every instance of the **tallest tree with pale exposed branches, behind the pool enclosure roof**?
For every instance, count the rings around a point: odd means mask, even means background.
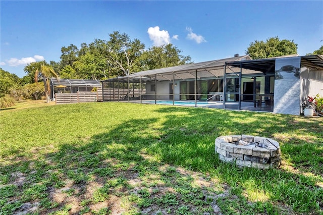
[[[133,72],[133,67],[140,65],[139,57],[142,55],[145,44],[138,39],[131,40],[126,33],[115,31],[109,34],[108,42],[112,63],[122,70],[124,75]]]

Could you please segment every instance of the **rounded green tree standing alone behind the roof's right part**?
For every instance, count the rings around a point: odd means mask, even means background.
[[[297,54],[297,44],[294,40],[280,40],[277,36],[268,38],[265,42],[255,40],[247,48],[246,54],[252,59],[263,59]]]

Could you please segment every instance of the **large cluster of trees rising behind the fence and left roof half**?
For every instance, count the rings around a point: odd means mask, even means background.
[[[37,64],[53,68],[61,78],[108,79],[131,73],[192,63],[190,56],[181,55],[181,50],[173,44],[152,46],[145,49],[139,39],[131,39],[126,33],[115,31],[109,40],[94,39],[82,43],[63,46],[60,62],[34,62],[24,71],[33,80]],[[41,75],[41,74],[40,74]],[[39,77],[41,78],[41,77]]]

